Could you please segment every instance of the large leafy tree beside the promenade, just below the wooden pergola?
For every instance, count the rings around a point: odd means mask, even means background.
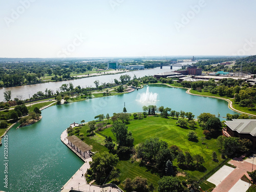
[[[91,168],[89,172],[92,173],[93,178],[98,184],[103,184],[118,161],[117,155],[108,152],[96,153],[90,162]]]

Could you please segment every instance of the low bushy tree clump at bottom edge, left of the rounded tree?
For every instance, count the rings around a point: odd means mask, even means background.
[[[126,192],[140,191],[140,192],[151,192],[154,191],[154,185],[148,184],[147,179],[143,177],[136,177],[133,180],[126,178],[124,180],[124,190]]]

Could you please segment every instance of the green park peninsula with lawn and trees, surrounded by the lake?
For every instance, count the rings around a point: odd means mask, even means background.
[[[68,129],[69,135],[77,135],[92,145],[93,152],[109,152],[119,158],[106,181],[116,183],[126,191],[136,190],[129,188],[134,180],[144,181],[147,191],[153,191],[159,183],[168,183],[173,177],[183,184],[182,190],[186,191],[189,184],[190,189],[197,191],[203,180],[226,163],[227,156],[240,155],[250,148],[250,141],[234,141],[243,146],[238,147],[241,151],[230,154],[226,146],[232,141],[218,137],[223,124],[215,115],[201,114],[197,122],[192,113],[175,112],[164,106],[144,106],[142,110],[143,113],[133,115],[114,113],[111,118],[107,114],[105,120],[100,114],[95,117],[97,122]],[[181,121],[185,123],[181,124]],[[88,182],[95,179],[94,171],[88,172]],[[161,178],[163,181],[160,182]],[[101,180],[96,183],[103,184]],[[202,186],[207,190],[213,185],[203,181]]]

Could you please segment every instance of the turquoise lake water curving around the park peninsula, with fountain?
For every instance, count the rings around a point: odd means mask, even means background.
[[[0,190],[4,191],[60,191],[71,176],[83,164],[68,147],[60,141],[61,133],[69,124],[81,120],[91,121],[98,114],[111,116],[123,110],[128,113],[142,112],[143,105],[154,104],[172,110],[192,112],[196,117],[209,112],[222,117],[227,113],[227,102],[215,98],[188,95],[185,89],[163,85],[150,86],[150,92],[158,93],[152,103],[138,101],[143,88],[129,94],[94,98],[86,101],[55,105],[42,111],[37,123],[8,132],[8,189],[4,187],[4,146],[0,146]],[[2,140],[3,141],[3,140]]]

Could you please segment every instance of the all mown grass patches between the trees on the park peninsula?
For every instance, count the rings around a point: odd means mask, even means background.
[[[131,117],[132,119],[132,117]],[[221,154],[219,153],[219,147],[217,145],[216,139],[204,140],[206,144],[202,144],[201,137],[204,137],[203,130],[197,125],[193,131],[197,133],[198,142],[188,141],[187,134],[191,131],[188,127],[180,127],[176,124],[177,119],[173,118],[162,118],[162,117],[146,117],[143,119],[134,120],[132,119],[128,126],[128,130],[132,132],[134,137],[134,145],[144,142],[146,139],[159,137],[161,140],[164,140],[168,145],[177,145],[183,150],[183,152],[188,151],[191,155],[199,154],[201,155],[205,163],[203,163],[203,168],[201,170],[179,169],[181,172],[186,172],[188,175],[200,179],[205,174],[214,169],[217,165],[220,164],[223,160],[221,159]],[[102,121],[101,121],[102,122]],[[104,123],[107,123],[107,120],[104,120]],[[110,120],[110,123],[112,121]],[[84,142],[93,146],[94,152],[104,152],[108,151],[104,145],[104,136],[111,136],[113,141],[116,142],[116,139],[111,132],[111,128],[104,129],[100,131],[99,134],[89,135],[87,130],[89,129],[88,125],[83,125],[79,129],[79,135],[83,133]],[[212,161],[212,152],[216,152],[218,155],[219,162]],[[178,166],[177,160],[174,161],[174,165]],[[145,166],[140,166],[139,161],[132,162],[131,160],[119,161],[117,168],[120,169],[120,176],[118,179],[122,182],[127,177],[133,179],[137,176],[142,176],[148,179],[150,183],[153,183],[154,186],[157,186],[157,182],[160,179],[158,174],[154,174],[151,170],[147,169]],[[205,183],[205,188],[211,186],[211,184]]]

